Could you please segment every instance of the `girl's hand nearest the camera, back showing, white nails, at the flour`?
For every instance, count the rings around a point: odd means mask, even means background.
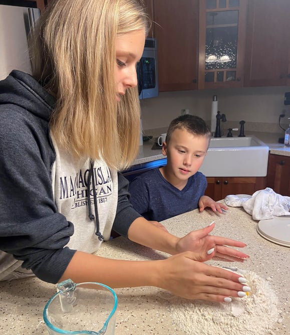
[[[157,261],[163,262],[163,265],[159,264],[156,286],[186,299],[230,302],[231,297],[245,296],[245,290],[250,290],[245,278],[200,262],[200,259],[210,258],[212,254],[205,256],[186,251]]]

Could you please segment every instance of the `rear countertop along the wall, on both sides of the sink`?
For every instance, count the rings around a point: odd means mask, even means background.
[[[146,163],[153,160],[158,160],[165,158],[163,156],[161,148],[153,149],[152,146],[154,144],[154,138],[156,138],[159,134],[166,132],[166,128],[160,128],[160,131],[157,133],[156,131],[145,131],[146,135],[152,135],[153,139],[143,142],[143,145],[140,146],[139,154],[134,164]],[[269,132],[259,132],[252,131],[247,136],[254,135],[263,141],[265,144],[269,146],[269,152],[273,154],[278,154],[282,156],[290,156],[290,147],[285,148],[284,144],[278,143],[278,138],[281,137],[281,134],[278,133],[269,133]]]

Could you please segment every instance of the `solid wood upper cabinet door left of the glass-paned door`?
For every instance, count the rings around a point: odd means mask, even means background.
[[[154,0],[159,91],[197,89],[198,0]]]

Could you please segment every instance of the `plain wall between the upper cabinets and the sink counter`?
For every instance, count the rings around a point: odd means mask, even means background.
[[[161,92],[156,98],[141,100],[143,129],[167,127],[185,108],[190,114],[210,120],[211,100],[216,94],[218,109],[227,121],[233,121],[233,127],[235,122],[238,127],[238,122],[244,120],[255,126],[263,123],[264,127],[257,131],[275,132],[279,130],[278,119],[283,111],[286,115],[281,124],[288,124],[290,106],[283,104],[284,93],[288,91],[289,86]]]

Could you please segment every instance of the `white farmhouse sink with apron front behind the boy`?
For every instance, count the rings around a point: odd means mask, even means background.
[[[268,153],[255,136],[211,138],[199,171],[206,177],[264,177]]]

